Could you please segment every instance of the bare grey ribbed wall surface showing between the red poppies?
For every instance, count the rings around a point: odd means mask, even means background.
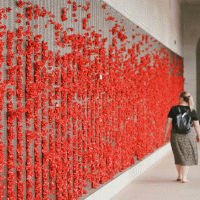
[[[25,0],[25,2],[29,2],[29,0]],[[77,2],[77,5],[86,5],[86,2],[84,0],[76,0],[75,2]],[[94,28],[91,28],[91,31],[89,33],[91,34],[91,32],[93,30],[95,30],[95,32],[97,32],[97,33],[102,33],[102,38],[108,38],[108,42],[107,42],[107,46],[106,46],[107,51],[108,51],[108,48],[109,48],[109,44],[112,44],[112,41],[113,41],[113,35],[110,32],[110,30],[112,29],[112,27],[115,26],[115,24],[116,24],[115,20],[117,20],[119,22],[119,24],[121,25],[121,28],[122,28],[122,26],[125,27],[126,35],[128,37],[128,40],[131,41],[130,44],[127,44],[127,46],[126,46],[127,49],[131,48],[133,43],[138,43],[141,40],[141,37],[142,37],[143,34],[148,34],[145,31],[143,31],[142,29],[137,28],[137,26],[135,24],[133,24],[128,19],[124,18],[120,13],[118,13],[113,8],[107,6],[107,9],[103,10],[102,9],[102,6],[104,5],[103,1],[100,1],[100,0],[99,1],[88,0],[88,2],[91,3],[91,8],[90,8],[89,12],[91,13],[91,16],[92,16],[91,19],[88,20],[88,27],[95,26]],[[89,12],[86,13],[85,11],[83,11],[83,8],[79,9],[79,11],[76,12],[76,14],[77,14],[76,18],[78,19],[78,22],[75,23],[74,22],[75,18],[72,17],[72,14],[74,13],[72,11],[73,4],[71,4],[71,5],[67,4],[66,0],[60,0],[60,1],[55,1],[55,0],[54,1],[32,0],[31,3],[34,5],[34,7],[38,4],[40,8],[45,7],[47,11],[52,11],[52,14],[55,15],[55,18],[53,20],[56,21],[56,22],[61,23],[63,25],[63,30],[66,30],[68,35],[70,35],[70,34],[78,34],[78,33],[80,33],[81,35],[84,35],[84,33],[87,32],[87,31],[83,30],[83,28],[82,28],[82,20],[83,20],[84,17],[87,16],[87,14]],[[16,31],[16,29],[21,25],[26,27],[26,21],[28,21],[28,20],[22,20],[21,24],[16,23],[16,20],[19,19],[17,17],[17,13],[21,12],[22,14],[25,14],[26,13],[25,12],[25,7],[23,7],[23,9],[20,9],[18,6],[16,6],[16,1],[14,1],[14,0],[1,1],[0,2],[0,6],[1,6],[1,8],[7,8],[7,7],[11,7],[12,8],[11,13],[7,14],[8,19],[7,20],[5,20],[5,19],[2,20],[2,24],[6,24],[7,30]],[[70,8],[69,11],[68,11],[68,14],[67,14],[67,17],[69,19],[66,22],[61,22],[61,14],[62,14],[62,8],[63,7]],[[110,13],[110,14],[107,15],[107,13]],[[115,17],[115,20],[114,21],[106,21],[106,19],[109,16]],[[32,28],[32,31],[33,31],[33,36],[41,34],[42,35],[41,41],[44,40],[45,42],[48,42],[48,48],[49,48],[49,50],[52,50],[54,52],[54,55],[56,55],[58,50],[61,50],[61,55],[64,55],[65,53],[71,53],[71,48],[69,48],[69,47],[60,48],[60,47],[57,46],[56,41],[55,41],[55,28],[54,28],[55,25],[51,25],[49,23],[49,19],[51,19],[51,18],[47,15],[44,18],[40,17],[38,20],[32,20],[31,28]],[[122,20],[124,20],[124,22],[120,23],[120,22],[122,22]],[[48,27],[44,28],[45,24],[47,24],[47,23],[48,23]],[[37,25],[37,24],[38,24],[39,27],[38,27],[38,29],[35,29],[35,25]],[[71,32],[69,30],[70,27],[74,28],[73,32]],[[100,32],[100,29],[102,30],[102,32]],[[132,29],[135,29],[135,31],[133,32]],[[137,34],[140,34],[140,37],[136,37],[134,40],[132,40],[133,33],[135,33],[135,32]],[[4,36],[3,39],[6,41],[6,36]],[[153,44],[153,48],[156,48],[157,50],[159,50],[159,49],[164,47],[163,45],[160,45],[158,43],[153,43],[152,41],[150,42],[150,44]],[[122,43],[120,43],[120,42],[118,43],[118,48],[120,48],[121,44]],[[15,40],[14,41],[14,47],[13,47],[13,52],[14,53],[17,53],[16,52],[16,45],[17,45],[17,42]],[[25,50],[25,43],[23,45],[24,45],[23,48]],[[146,47],[144,46],[144,50],[145,50],[145,48]],[[127,52],[124,53],[124,56],[125,56],[126,53]],[[138,60],[140,60],[140,58],[142,56],[144,56],[145,54],[146,54],[146,51],[144,53],[141,53],[139,55],[139,57],[138,57]],[[7,57],[7,49],[6,49],[6,47],[4,47],[4,55]],[[173,55],[174,55],[174,53],[171,52],[171,58],[173,57]],[[94,56],[93,56],[93,58],[94,58]],[[40,56],[40,59],[41,59],[41,56]],[[32,60],[34,60],[34,57],[32,57]],[[26,63],[26,58],[25,57],[23,57],[23,62]],[[13,63],[14,63],[14,65],[17,64],[16,63],[16,58],[14,59]],[[3,72],[3,80],[4,79],[8,79],[7,69],[8,69],[8,66],[7,66],[7,64],[5,62],[3,64],[3,68],[1,69],[1,71]],[[47,72],[50,73],[54,69],[55,69],[55,66],[53,67],[52,70],[48,69]],[[24,76],[22,81],[23,81],[23,89],[24,89],[24,92],[25,92],[25,81],[26,81],[25,65],[24,65],[23,73],[24,73],[25,76]],[[33,74],[34,74],[34,71],[33,71]],[[11,86],[9,86],[9,87],[11,87]],[[16,90],[16,86],[12,86],[11,88],[13,90]],[[56,86],[54,86],[54,88],[56,88]],[[90,97],[87,97],[87,98],[90,98]],[[7,143],[7,102],[6,102],[7,101],[7,96],[4,98],[4,101],[5,101],[4,110],[2,111],[2,116],[3,116],[2,124],[4,125],[3,142],[7,146],[7,144],[8,144]],[[13,96],[12,101],[14,102],[14,110],[16,110],[17,109],[16,96]],[[76,101],[78,101],[77,98],[76,98]],[[23,103],[23,107],[25,107],[25,97],[23,98],[22,103]],[[59,103],[61,103],[61,102],[59,102]],[[49,105],[47,105],[47,109],[48,108],[49,108]],[[41,110],[39,111],[39,113],[40,113],[40,123],[41,123],[41,120],[42,120]],[[32,128],[30,130],[33,131],[34,120],[31,120],[31,124],[32,124]],[[17,125],[17,121],[15,120],[14,126],[16,127],[16,125]],[[55,125],[55,122],[54,122],[54,125]],[[23,118],[23,132],[24,132],[24,135],[25,135],[25,130],[26,129],[27,129],[27,127],[26,127],[25,114],[24,114],[24,118]],[[48,129],[49,129],[49,127],[48,127]],[[16,128],[15,128],[15,133],[16,133]],[[73,136],[73,132],[71,134]],[[98,133],[95,133],[95,134],[98,134]],[[112,135],[111,135],[111,137],[112,137]],[[49,135],[47,135],[47,141],[48,141],[48,143],[50,142],[49,141]],[[40,138],[40,143],[41,142],[42,142],[42,140]],[[17,137],[13,140],[13,144],[14,144],[14,152],[15,152],[15,158],[16,158],[17,157]],[[26,156],[27,156],[27,154],[25,152],[25,149],[26,149],[26,139],[25,139],[25,137],[24,137],[23,145],[24,145],[23,158],[24,158],[24,165],[25,165],[25,160],[26,160]],[[114,142],[113,142],[113,145],[114,145]],[[48,146],[48,149],[49,149],[49,146]],[[40,146],[40,153],[41,153],[41,151],[42,151],[42,147]],[[5,155],[6,155],[6,157],[8,156],[7,148],[5,149]],[[31,155],[33,157],[32,158],[32,165],[34,166],[34,159],[35,159],[34,158],[34,142],[31,143]],[[15,159],[15,165],[17,166],[16,159]],[[13,172],[16,173],[16,169]],[[4,175],[7,176],[7,166],[6,165],[4,166]],[[118,175],[116,175],[116,176],[118,176]],[[23,181],[26,182],[26,171],[25,171],[25,169],[24,169]],[[34,177],[33,177],[33,181],[35,181]],[[88,185],[88,187],[86,189],[91,189],[91,187],[92,187],[91,183],[89,181],[88,181],[88,183],[89,183],[89,185]],[[35,188],[33,187],[32,188],[32,192],[33,193],[34,193],[34,189]],[[17,185],[15,187],[15,190],[16,190],[16,195],[17,195]],[[5,199],[7,199],[8,198],[7,197],[7,190],[4,190],[4,191],[5,191],[5,194],[6,194]],[[51,197],[56,199],[56,194],[52,195]],[[25,197],[24,197],[24,199],[26,199],[26,188],[25,188]]]

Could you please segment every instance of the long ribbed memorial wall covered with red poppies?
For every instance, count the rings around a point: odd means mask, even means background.
[[[101,1],[0,5],[0,199],[78,199],[166,143],[178,55]]]

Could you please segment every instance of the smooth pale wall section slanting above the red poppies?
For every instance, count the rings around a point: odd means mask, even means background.
[[[103,0],[158,41],[183,56],[179,0]]]

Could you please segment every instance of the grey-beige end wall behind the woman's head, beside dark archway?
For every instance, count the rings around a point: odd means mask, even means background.
[[[199,84],[197,83],[198,56],[197,44],[200,39],[200,6],[182,6],[183,21],[183,57],[185,90],[190,92],[194,98],[195,108],[200,117],[200,95],[198,95]]]

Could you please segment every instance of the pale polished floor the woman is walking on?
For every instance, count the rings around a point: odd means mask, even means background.
[[[111,200],[200,200],[200,143],[198,155],[199,164],[189,169],[189,183],[176,181],[178,174],[170,151]]]

